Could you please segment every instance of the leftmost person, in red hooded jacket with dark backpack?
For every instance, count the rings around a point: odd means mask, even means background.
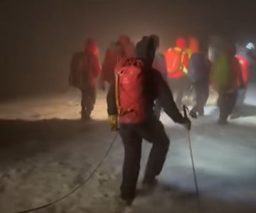
[[[84,52],[75,52],[71,59],[69,84],[82,92],[81,119],[90,120],[96,101],[96,79],[100,75],[98,48],[92,38],[86,40]]]

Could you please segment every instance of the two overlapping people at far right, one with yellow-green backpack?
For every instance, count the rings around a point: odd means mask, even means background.
[[[254,46],[247,46],[242,54],[234,42],[226,42],[212,63],[211,81],[218,92],[220,117],[218,124],[227,124],[227,119],[241,114],[250,75],[250,58],[253,60]]]

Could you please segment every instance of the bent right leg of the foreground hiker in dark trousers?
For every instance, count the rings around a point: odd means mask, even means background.
[[[164,126],[159,120],[152,120],[138,128],[138,134],[152,142],[150,157],[146,166],[143,183],[153,184],[155,177],[160,174],[169,148],[169,138],[164,131]]]

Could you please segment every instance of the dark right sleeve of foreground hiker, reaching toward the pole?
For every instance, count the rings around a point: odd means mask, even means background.
[[[164,81],[162,75],[155,72],[156,76],[156,88],[158,88],[158,99],[164,109],[164,112],[176,123],[184,124],[186,122],[185,118],[179,112],[176,103],[173,100],[172,92],[168,87],[166,81]]]

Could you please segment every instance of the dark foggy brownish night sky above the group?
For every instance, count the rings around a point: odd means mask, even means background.
[[[89,36],[101,59],[119,34],[134,42],[158,34],[162,49],[182,35],[250,40],[256,32],[252,2],[1,0],[0,99],[67,89],[71,54]]]

